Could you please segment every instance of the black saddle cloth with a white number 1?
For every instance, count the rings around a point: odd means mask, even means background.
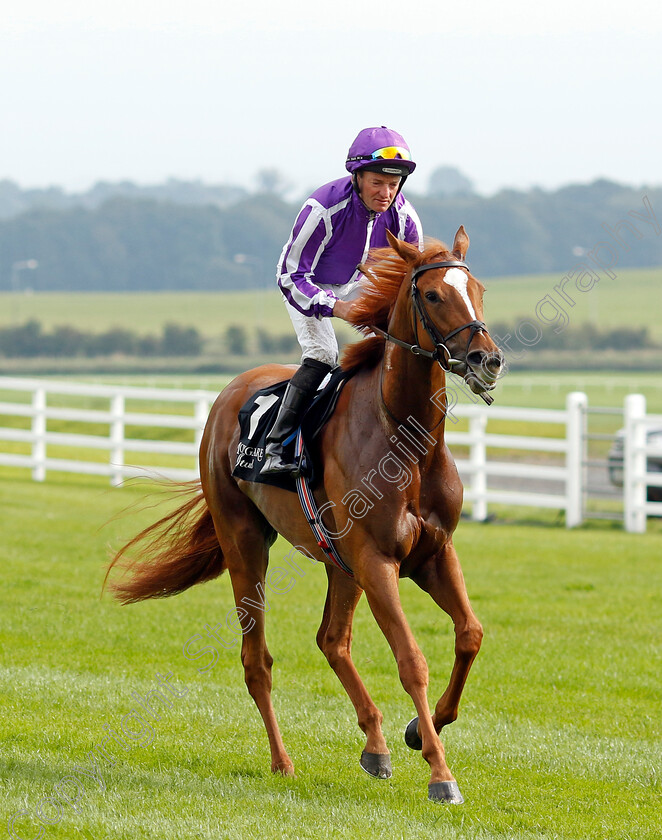
[[[313,442],[333,414],[340,392],[354,373],[355,371],[344,371],[340,367],[334,368],[320,386],[301,421],[301,471],[311,486],[315,484],[316,474],[320,471]],[[288,473],[260,474],[264,464],[266,437],[276,420],[288,381],[276,382],[268,388],[256,391],[239,411],[240,438],[232,475],[243,478],[244,481],[273,484],[296,493],[295,480]],[[286,448],[291,447],[292,452],[295,438],[296,434],[293,434],[285,441]]]

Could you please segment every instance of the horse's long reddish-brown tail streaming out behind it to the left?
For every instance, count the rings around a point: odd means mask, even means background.
[[[200,482],[184,482],[176,491],[190,498],[126,543],[108,566],[104,586],[116,564],[125,572],[109,585],[123,604],[176,595],[218,577],[225,569]],[[127,552],[138,546],[140,559],[125,560]]]

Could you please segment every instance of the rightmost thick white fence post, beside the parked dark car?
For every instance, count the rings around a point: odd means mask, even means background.
[[[625,530],[646,532],[646,397],[625,398],[625,441],[623,447],[623,513]]]

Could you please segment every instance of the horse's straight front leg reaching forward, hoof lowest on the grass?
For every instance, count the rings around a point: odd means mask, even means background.
[[[423,758],[430,765],[428,796],[443,802],[463,802],[430,715],[428,666],[402,610],[398,567],[388,558],[373,555],[364,558],[355,571],[359,572],[357,577],[365,590],[370,609],[393,651],[400,681],[418,712]]]

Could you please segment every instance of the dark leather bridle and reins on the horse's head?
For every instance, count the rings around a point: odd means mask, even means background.
[[[418,288],[419,276],[424,272],[432,271],[435,268],[466,268],[467,271],[469,270],[469,266],[463,260],[443,260],[442,262],[426,263],[425,265],[419,265],[412,271],[410,278],[411,299],[413,304],[412,331],[416,338],[415,344],[410,344],[407,341],[402,341],[402,339],[396,338],[390,333],[387,333],[385,330],[379,329],[379,327],[373,326],[370,329],[372,332],[381,335],[382,338],[386,339],[386,341],[390,341],[393,344],[397,344],[398,347],[403,347],[405,350],[409,350],[415,356],[424,356],[427,359],[437,362],[439,366],[445,371],[453,373],[454,368],[461,367],[463,365],[469,367],[469,365],[466,361],[453,358],[451,351],[448,349],[448,342],[451,340],[451,338],[458,335],[463,330],[469,330],[469,338],[467,339],[467,346],[465,349],[466,359],[466,356],[469,353],[469,347],[471,346],[471,342],[474,340],[474,336],[476,335],[476,333],[487,332],[487,327],[485,326],[485,323],[483,321],[473,320],[468,321],[466,324],[462,324],[462,326],[460,327],[456,327],[454,330],[451,330],[446,335],[441,333],[435,327],[425,307],[425,303]],[[428,336],[432,339],[432,343],[434,344],[434,350],[426,350],[424,347],[421,347],[418,343],[419,322],[425,330],[425,332],[428,334]],[[492,397],[486,392],[482,392],[480,396],[483,400],[485,400],[485,402],[488,405],[491,402],[493,402]]]

